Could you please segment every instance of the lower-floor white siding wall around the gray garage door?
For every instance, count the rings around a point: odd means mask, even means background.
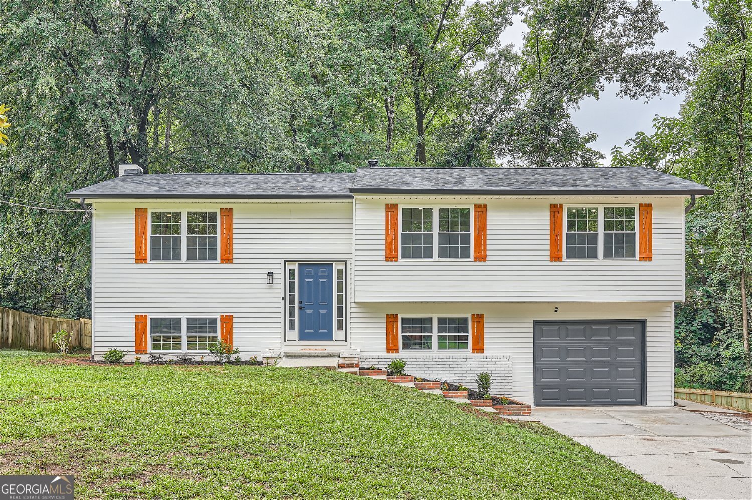
[[[559,311],[554,312],[558,307]],[[532,322],[534,320],[647,320],[647,404],[674,402],[672,302],[575,303],[356,303],[350,319],[351,346],[365,359],[386,352],[385,314],[485,314],[485,353],[512,356],[511,397],[532,403]],[[402,357],[402,353],[387,357]],[[479,358],[482,359],[482,358]],[[475,373],[484,362],[463,364]],[[411,373],[410,368],[406,369]],[[446,376],[444,378],[449,378]],[[473,377],[475,378],[475,377]]]

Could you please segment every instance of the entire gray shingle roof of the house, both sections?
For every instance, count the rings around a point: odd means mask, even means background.
[[[125,175],[68,198],[352,198],[353,194],[711,195],[650,168],[359,168],[357,174]]]

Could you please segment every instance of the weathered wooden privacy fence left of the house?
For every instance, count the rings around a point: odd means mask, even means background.
[[[92,320],[65,320],[0,308],[0,347],[57,352],[52,336],[71,334],[70,350],[92,348]]]

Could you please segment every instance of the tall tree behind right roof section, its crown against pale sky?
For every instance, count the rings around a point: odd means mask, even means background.
[[[520,69],[523,104],[496,123],[490,147],[509,165],[593,166],[603,156],[588,147],[569,111],[598,98],[605,83],[619,95],[651,98],[681,89],[683,62],[675,51],[654,50],[666,31],[650,0],[540,0],[526,9]]]

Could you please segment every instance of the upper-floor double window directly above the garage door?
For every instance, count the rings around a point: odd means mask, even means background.
[[[634,259],[635,207],[566,208],[566,259]]]

